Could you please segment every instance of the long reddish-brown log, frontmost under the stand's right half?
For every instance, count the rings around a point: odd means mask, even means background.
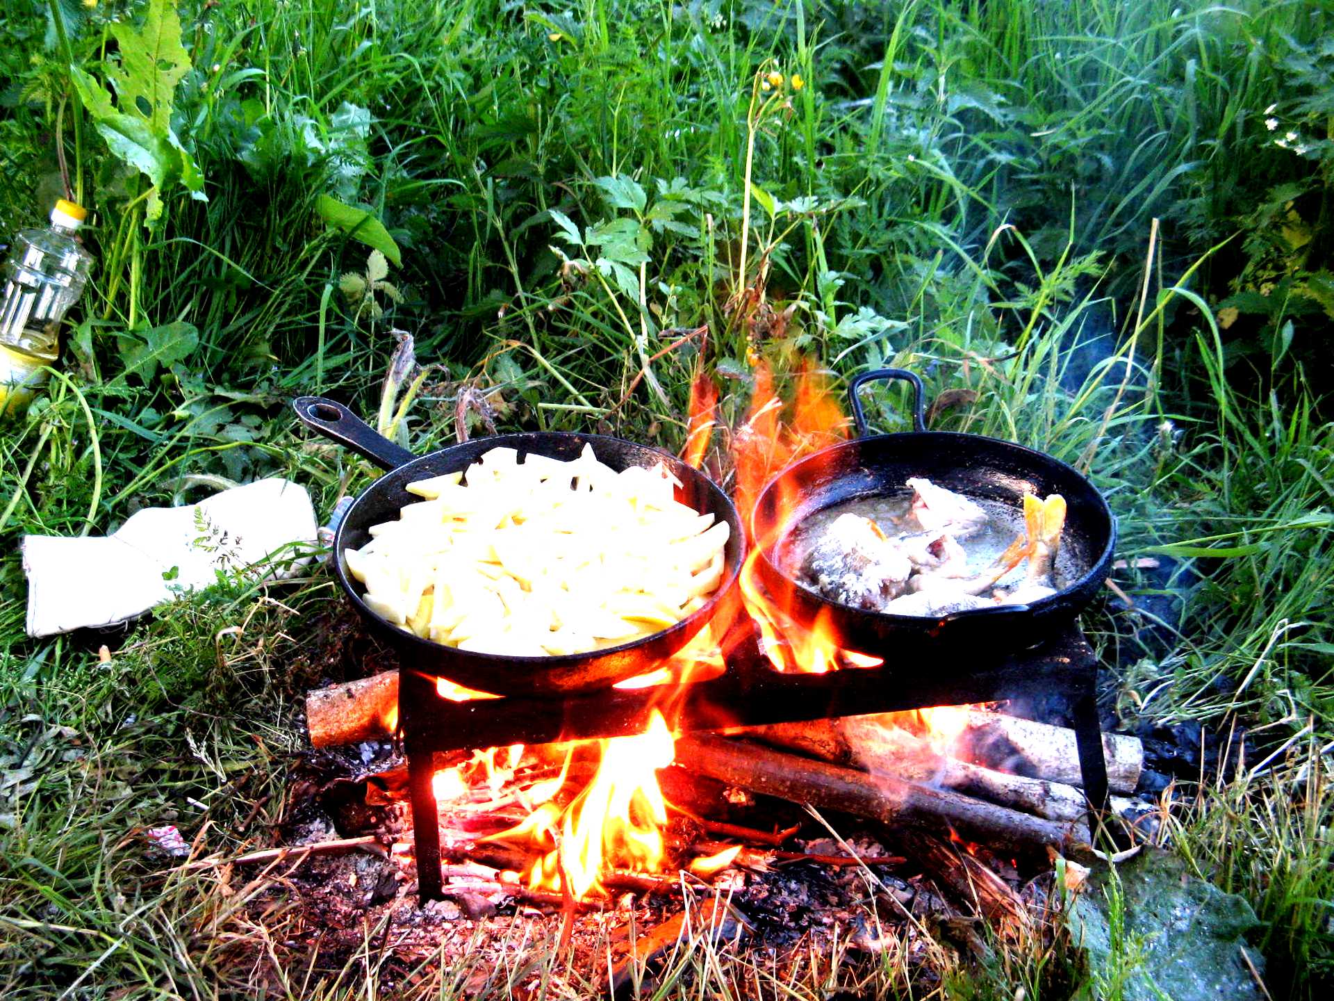
[[[1089,842],[1083,823],[1031,817],[947,789],[894,775],[872,777],[755,743],[691,735],[676,742],[676,754],[694,771],[730,785],[886,823],[944,822],[978,841],[1019,850],[1047,845],[1067,852]]]

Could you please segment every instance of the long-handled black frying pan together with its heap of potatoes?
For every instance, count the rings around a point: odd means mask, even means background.
[[[498,695],[654,670],[738,602],[744,535],[699,470],[606,435],[527,432],[414,456],[339,403],[300,420],[387,470],[339,525],[339,582],[418,667]]]

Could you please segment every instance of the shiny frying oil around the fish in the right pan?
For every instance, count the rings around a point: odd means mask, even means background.
[[[963,551],[968,557],[968,574],[980,574],[990,567],[1006,546],[1014,542],[1015,537],[1023,535],[1023,511],[986,498],[970,496],[987,513],[987,522],[979,530],[964,539],[959,539]],[[900,533],[915,531],[907,525],[908,505],[912,502],[912,491],[904,490],[900,494],[858,496],[850,500],[840,500],[836,505],[820,509],[812,515],[802,519],[779,545],[779,566],[788,577],[802,579],[802,566],[807,554],[819,542],[820,537],[834,521],[843,514],[856,514],[870,518],[888,537]],[[1087,571],[1075,553],[1074,546],[1065,546],[1057,553],[1054,567],[1055,587],[1066,587],[1071,581],[1078,579]],[[1025,566],[1021,563],[1015,570],[1006,574],[999,586],[1023,579]]]

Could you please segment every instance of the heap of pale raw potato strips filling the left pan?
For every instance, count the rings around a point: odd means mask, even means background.
[[[492,448],[407,484],[423,500],[344,550],[366,602],[460,650],[578,654],[667,629],[722,583],[726,522],[676,499],[659,464],[622,471],[591,446],[563,462]]]

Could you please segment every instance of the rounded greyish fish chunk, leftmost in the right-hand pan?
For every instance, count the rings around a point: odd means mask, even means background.
[[[870,518],[844,514],[811,547],[803,571],[826,598],[875,611],[903,594],[912,562]]]

